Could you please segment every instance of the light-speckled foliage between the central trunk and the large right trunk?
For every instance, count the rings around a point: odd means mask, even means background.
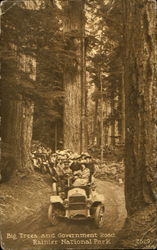
[[[122,63],[123,63],[123,16],[121,1],[87,1],[92,13],[89,19],[95,20],[95,29],[90,28],[87,70],[96,89],[94,100],[103,96],[104,102],[114,98],[121,99]],[[90,27],[90,24],[89,24]],[[101,81],[100,81],[101,75]],[[102,82],[102,91],[101,91]],[[120,101],[105,123],[121,119]]]

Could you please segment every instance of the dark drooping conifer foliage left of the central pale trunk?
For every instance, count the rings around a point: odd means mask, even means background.
[[[52,122],[62,120],[65,57],[58,8],[39,2],[37,9],[17,3],[2,18],[1,92],[7,98],[20,92],[34,100],[34,130],[42,130],[43,137]]]

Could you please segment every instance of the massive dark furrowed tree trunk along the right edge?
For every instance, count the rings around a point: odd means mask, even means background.
[[[124,1],[128,214],[155,203],[155,4]]]

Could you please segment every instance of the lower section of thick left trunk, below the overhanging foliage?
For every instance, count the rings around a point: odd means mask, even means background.
[[[18,94],[16,99],[2,99],[2,156],[14,158],[16,168],[31,167],[31,140],[34,105]]]

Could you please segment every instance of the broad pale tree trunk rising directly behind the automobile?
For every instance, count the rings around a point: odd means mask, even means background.
[[[64,72],[64,147],[87,150],[84,1],[64,0],[64,35],[71,55]]]

